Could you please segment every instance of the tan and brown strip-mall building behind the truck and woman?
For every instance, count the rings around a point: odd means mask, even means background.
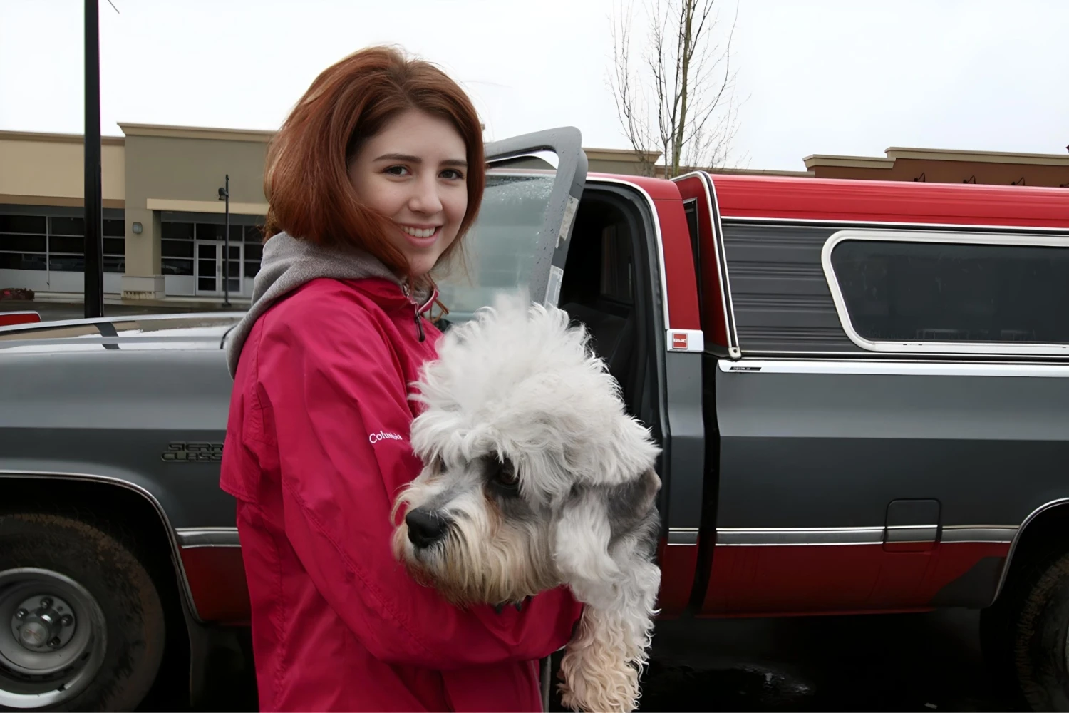
[[[230,295],[252,293],[267,204],[263,167],[272,131],[120,124],[102,148],[104,292],[122,299],[223,295],[223,212],[230,175]],[[83,292],[82,138],[0,131],[0,289]],[[589,170],[634,174],[634,152],[587,149]],[[651,154],[655,160],[657,154]],[[886,158],[808,156],[817,177],[1069,184],[1069,156],[894,149]],[[738,172],[738,171],[731,171]],[[919,176],[919,179],[918,179]]]

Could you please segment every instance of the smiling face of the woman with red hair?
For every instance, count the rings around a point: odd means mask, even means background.
[[[425,275],[456,238],[467,211],[467,152],[445,119],[416,109],[365,141],[348,167],[360,200],[390,218],[390,243]]]

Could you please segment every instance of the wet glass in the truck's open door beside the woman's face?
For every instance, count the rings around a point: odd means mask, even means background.
[[[479,218],[464,238],[463,260],[454,260],[437,277],[449,322],[470,319],[499,290],[528,284],[555,177],[553,171],[487,172]]]

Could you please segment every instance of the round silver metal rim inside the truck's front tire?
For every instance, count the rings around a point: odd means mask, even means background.
[[[66,575],[0,572],[0,706],[41,708],[78,695],[104,663],[106,632],[96,599]]]

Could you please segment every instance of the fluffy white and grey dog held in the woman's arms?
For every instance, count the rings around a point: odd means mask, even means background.
[[[422,472],[398,497],[394,553],[463,605],[568,585],[585,604],[561,661],[564,706],[630,711],[661,571],[660,448],[568,314],[499,298],[446,332],[413,394]]]

